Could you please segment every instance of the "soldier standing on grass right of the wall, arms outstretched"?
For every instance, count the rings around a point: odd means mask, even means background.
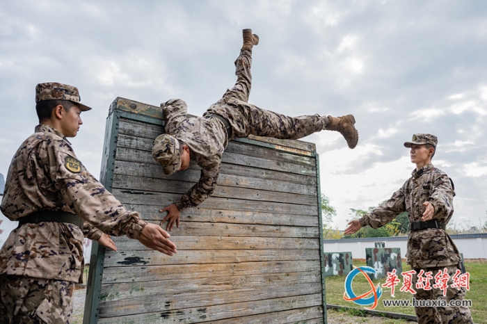
[[[369,225],[382,227],[394,220],[399,213],[408,212],[410,233],[406,258],[413,270],[413,289],[416,300],[438,300],[461,302],[465,298],[465,287],[454,288],[453,276],[460,270],[461,256],[452,238],[445,228],[453,216],[453,197],[455,195],[452,179],[442,170],[431,164],[436,152],[438,139],[427,133],[413,135],[410,142],[404,143],[410,148],[410,159],[416,164],[411,177],[396,191],[390,200],[378,206],[372,212],[358,220],[349,222],[345,234],[353,234]],[[446,271],[445,271],[446,269]],[[434,278],[440,272],[449,275],[448,289],[443,295],[442,289],[433,286],[423,289],[418,276],[424,270]],[[441,273],[440,273],[441,275]],[[446,276],[445,276],[446,277]],[[425,277],[421,278],[422,280]],[[415,307],[417,321],[424,323],[472,323],[470,309],[465,306]]]

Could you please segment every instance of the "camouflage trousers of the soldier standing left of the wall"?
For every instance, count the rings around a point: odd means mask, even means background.
[[[0,323],[69,324],[74,282],[0,275]]]

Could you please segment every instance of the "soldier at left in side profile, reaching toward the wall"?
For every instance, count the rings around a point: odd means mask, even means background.
[[[39,123],[15,153],[1,212],[19,225],[0,250],[0,323],[70,323],[74,283],[83,272],[83,236],[116,250],[127,235],[168,255],[177,252],[161,227],[129,211],[86,170],[68,142],[77,136],[77,88],[40,83]]]

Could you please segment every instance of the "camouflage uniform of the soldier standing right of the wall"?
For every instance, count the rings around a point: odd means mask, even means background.
[[[426,207],[424,202],[430,202],[435,209],[433,220],[447,225],[453,215],[454,188],[451,179],[435,168],[432,164],[424,165],[420,170],[413,170],[412,177],[396,191],[390,200],[378,206],[374,211],[360,218],[360,225],[372,228],[381,227],[394,220],[399,213],[408,212],[410,222],[420,221]],[[448,268],[454,273],[459,268],[460,254],[452,238],[444,229],[422,229],[410,232],[408,236],[408,264],[417,273],[421,269],[433,271],[433,277],[438,270]],[[416,277],[413,278],[413,284]],[[417,300],[436,300],[442,294],[439,289],[415,289]],[[442,296],[441,296],[442,297]],[[447,300],[463,300],[465,288],[449,288]],[[470,309],[466,307],[417,307],[415,309],[418,323],[473,323]],[[438,311],[438,314],[435,314]],[[440,317],[442,321],[440,320]]]

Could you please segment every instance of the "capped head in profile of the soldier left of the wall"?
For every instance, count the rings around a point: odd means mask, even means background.
[[[40,124],[49,124],[66,137],[77,135],[81,111],[91,108],[80,103],[79,91],[63,83],[39,83],[35,87],[35,111]]]

